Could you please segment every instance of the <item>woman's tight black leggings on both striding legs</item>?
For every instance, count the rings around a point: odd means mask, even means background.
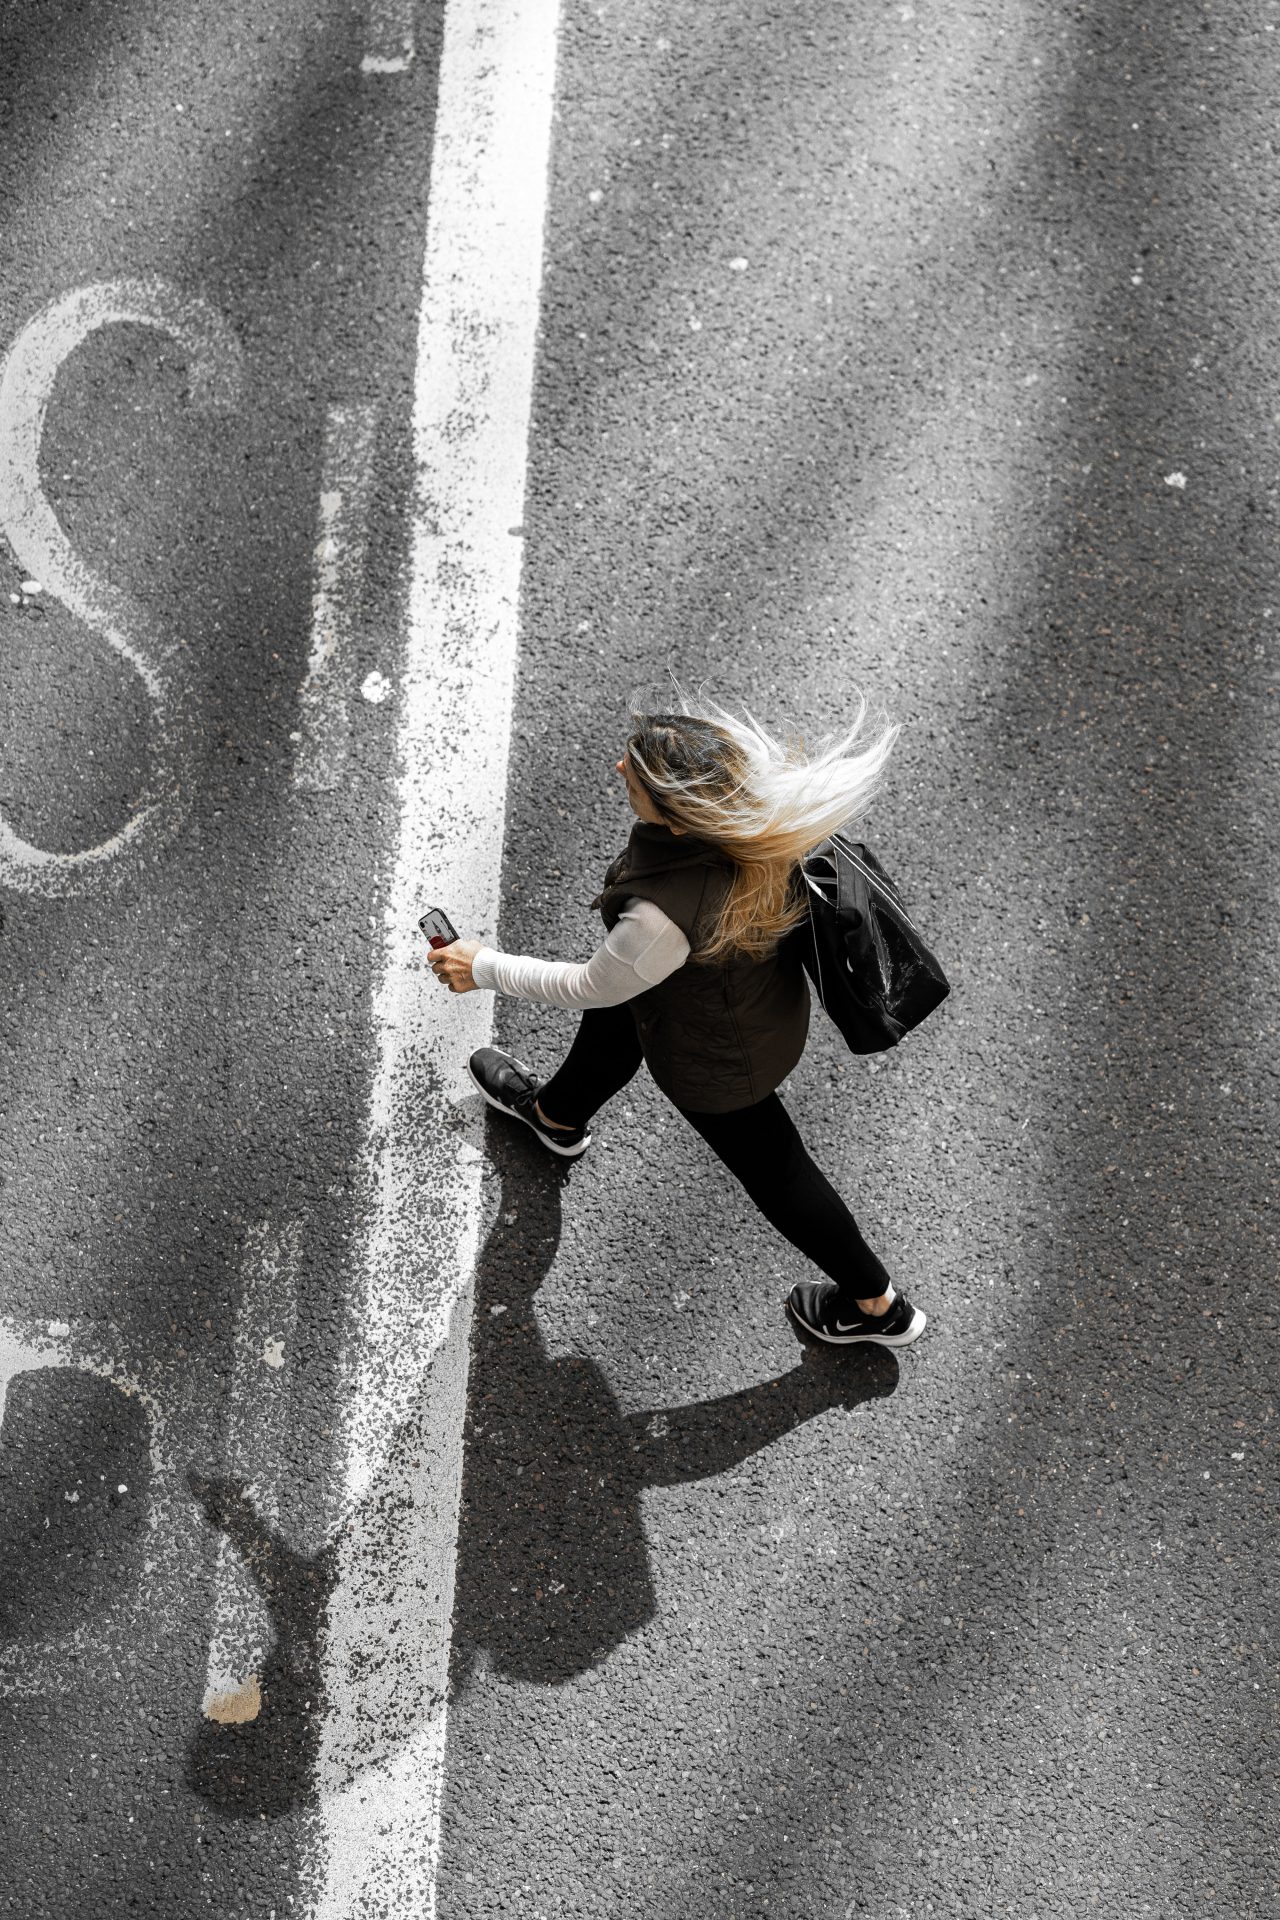
[[[631,1079],[643,1060],[631,1008],[589,1006],[564,1066],[537,1094],[547,1119],[585,1125]],[[676,1102],[672,1102],[676,1104]],[[737,1175],[764,1217],[821,1267],[850,1298],[873,1300],[889,1275],[858,1231],[835,1187],[808,1156],[779,1096],[731,1114],[677,1108]]]

